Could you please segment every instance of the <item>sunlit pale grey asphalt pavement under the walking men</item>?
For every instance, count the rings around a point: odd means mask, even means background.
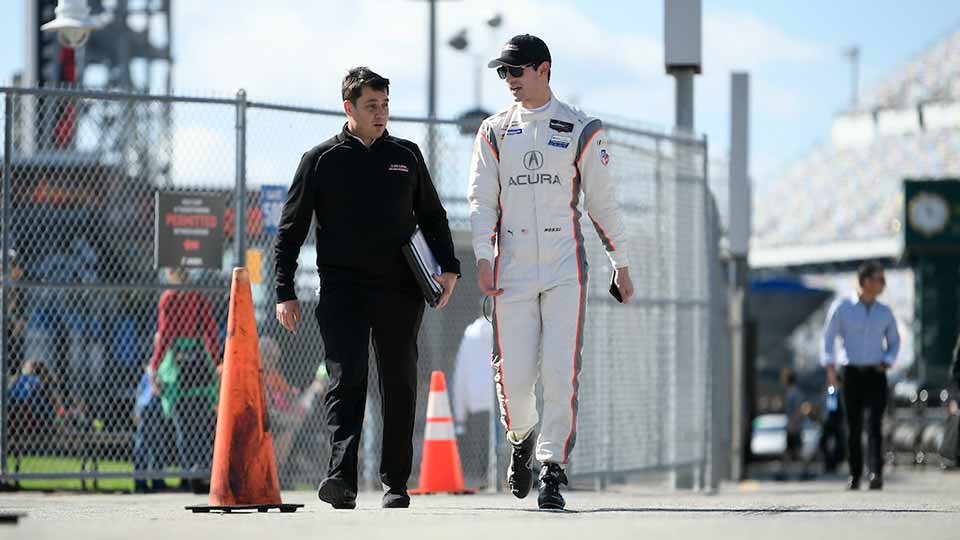
[[[960,538],[960,473],[928,468],[887,474],[883,491],[847,492],[842,478],[728,483],[713,494],[674,491],[662,482],[567,492],[567,511],[537,510],[536,491],[415,496],[411,508],[384,510],[361,493],[356,510],[333,510],[315,493],[284,492],[296,513],[194,514],[206,497],[182,493],[0,494],[0,538],[445,538],[868,540]]]

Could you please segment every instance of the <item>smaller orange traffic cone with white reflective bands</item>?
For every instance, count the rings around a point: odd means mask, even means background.
[[[420,483],[414,494],[474,493],[463,487],[463,468],[453,431],[453,414],[447,397],[447,381],[442,371],[430,376],[430,398],[427,401],[427,429],[423,437],[423,458],[420,460]]]

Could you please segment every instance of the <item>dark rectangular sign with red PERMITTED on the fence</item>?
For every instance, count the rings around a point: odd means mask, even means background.
[[[222,195],[157,192],[157,268],[220,269],[225,207]]]

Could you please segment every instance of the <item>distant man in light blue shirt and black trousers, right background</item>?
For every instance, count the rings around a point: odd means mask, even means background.
[[[867,417],[870,489],[883,489],[883,411],[887,406],[887,370],[897,360],[900,334],[889,306],[877,300],[886,287],[883,267],[866,262],[857,269],[855,294],[838,299],[830,307],[823,332],[820,363],[827,370],[827,385],[838,384],[842,368],[843,405],[847,419],[850,480],[847,489],[860,489],[863,474],[864,410]],[[837,338],[843,343],[835,353]]]

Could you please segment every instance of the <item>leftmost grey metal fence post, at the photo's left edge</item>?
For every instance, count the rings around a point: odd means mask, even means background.
[[[10,246],[10,165],[13,154],[13,96],[5,92],[3,96],[3,209],[0,210],[0,223],[3,233],[0,239],[0,265],[3,266],[3,281],[0,284],[0,475],[7,472],[7,291],[10,286],[10,260],[7,249]]]

